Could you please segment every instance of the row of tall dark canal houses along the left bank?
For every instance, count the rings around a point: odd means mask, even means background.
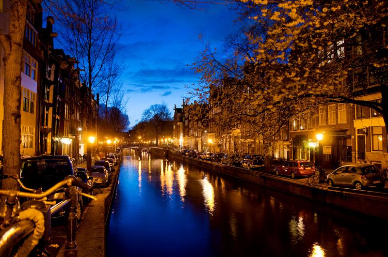
[[[0,1],[0,30],[8,32],[11,1]],[[54,18],[42,27],[42,6],[29,1],[21,70],[21,156],[86,152],[86,111],[92,102],[92,126],[97,128],[98,95],[81,83],[76,60],[54,48]],[[4,52],[0,48],[1,60]],[[0,62],[0,119],[4,106],[4,63]],[[85,135],[85,136],[84,136]],[[2,126],[0,141],[2,142]],[[2,143],[0,144],[2,149]]]

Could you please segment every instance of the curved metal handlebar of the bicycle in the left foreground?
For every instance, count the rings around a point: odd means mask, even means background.
[[[65,186],[65,185],[67,185],[67,186],[71,186],[71,185],[79,186],[85,190],[89,190],[91,188],[91,186],[85,184],[82,181],[79,181],[76,177],[70,175],[70,176],[67,176],[63,181],[59,181],[58,183],[56,183],[55,185],[50,187],[45,192],[42,192],[39,194],[21,192],[21,191],[17,191],[17,190],[2,190],[2,189],[0,189],[0,195],[3,195],[3,196],[16,195],[16,197],[44,198],[44,197],[47,197],[50,194],[54,193],[56,190],[58,190],[59,188]]]

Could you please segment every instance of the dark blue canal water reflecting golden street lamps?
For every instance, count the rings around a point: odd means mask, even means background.
[[[388,256],[385,222],[126,150],[106,256]]]

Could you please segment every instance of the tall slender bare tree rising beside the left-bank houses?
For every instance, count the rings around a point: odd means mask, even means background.
[[[94,91],[105,79],[103,68],[112,64],[114,50],[119,39],[115,17],[108,13],[117,1],[105,0],[48,0],[49,10],[60,21],[63,31],[60,41],[64,48],[78,60],[80,79],[90,91]],[[87,131],[92,128],[88,101]],[[87,167],[91,166],[91,145],[87,146]]]

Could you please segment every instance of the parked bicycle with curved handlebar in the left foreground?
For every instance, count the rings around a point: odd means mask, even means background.
[[[77,187],[86,192],[90,186],[78,180],[74,176],[67,176],[50,187],[45,192],[41,189],[27,188],[19,180],[16,174],[12,176],[2,175],[0,179],[13,178],[28,192],[17,190],[0,190],[0,195],[6,196],[6,208],[0,231],[0,256],[47,256],[50,255],[45,247],[48,245],[51,233],[51,215],[63,208],[68,208],[65,245],[66,256],[77,256],[77,243],[75,232],[77,224],[78,194],[96,200],[96,197],[80,192]],[[45,199],[50,194],[65,191],[65,199],[59,203],[47,202]],[[29,198],[18,209],[17,197]],[[51,207],[50,207],[51,205]]]

